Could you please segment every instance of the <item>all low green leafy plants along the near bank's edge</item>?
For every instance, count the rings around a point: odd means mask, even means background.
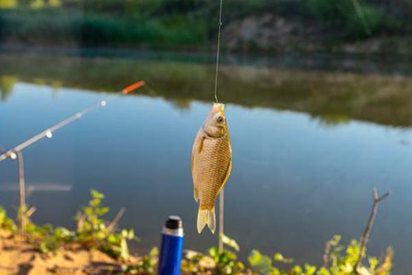
[[[389,193],[386,193],[389,194]],[[102,206],[102,193],[91,190],[91,201],[89,205],[82,208],[78,214],[78,231],[72,232],[67,228],[54,228],[46,224],[38,226],[30,220],[34,208],[22,208],[26,219],[25,236],[29,243],[34,245],[38,251],[46,254],[53,253],[61,247],[71,243],[80,243],[87,248],[99,249],[113,256],[119,261],[128,259],[129,251],[127,240],[136,239],[133,230],[120,230],[113,232],[113,222],[106,226],[102,216],[108,212],[108,208]],[[376,197],[378,201],[387,197],[382,195]],[[376,201],[375,201],[376,202]],[[4,208],[0,207],[0,230],[16,232],[14,221],[7,216]],[[385,256],[378,260],[374,256],[367,258],[367,265],[358,265],[361,256],[362,244],[356,240],[350,241],[348,245],[341,245],[341,236],[334,236],[326,243],[323,255],[323,266],[294,265],[293,259],[275,253],[273,257],[262,254],[259,250],[252,250],[248,261],[251,268],[238,261],[237,252],[240,250],[238,243],[225,236],[220,235],[220,240],[225,245],[224,250],[218,247],[209,249],[208,254],[193,251],[185,251],[181,262],[183,274],[238,274],[238,275],[389,275],[393,267],[393,249],[387,248]],[[366,252],[364,253],[366,254]],[[155,274],[159,251],[153,248],[149,254],[141,257],[138,263],[125,265],[124,274]],[[362,255],[366,258],[366,255]],[[361,263],[361,262],[360,262]],[[278,267],[280,264],[282,267]],[[355,270],[356,269],[356,270]]]

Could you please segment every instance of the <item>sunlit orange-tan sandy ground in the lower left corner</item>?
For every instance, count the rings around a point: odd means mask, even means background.
[[[119,270],[119,263],[98,250],[72,247],[43,255],[32,245],[0,232],[0,275],[113,274]]]

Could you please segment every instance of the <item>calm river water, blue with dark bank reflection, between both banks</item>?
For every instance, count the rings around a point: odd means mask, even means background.
[[[75,227],[89,190],[106,194],[120,225],[147,252],[168,214],[184,221],[185,247],[216,244],[196,232],[190,151],[211,108],[213,65],[139,58],[0,55],[0,145],[10,148],[68,115],[144,79],[152,90],[109,102],[23,151],[34,221]],[[41,66],[40,66],[41,65]],[[380,205],[370,252],[396,250],[396,274],[412,254],[412,78],[398,72],[342,72],[222,66],[233,170],[225,189],[225,230],[242,257],[258,248],[299,263],[321,263],[325,241],[359,238],[371,188]],[[17,167],[0,164],[0,203],[18,205]]]

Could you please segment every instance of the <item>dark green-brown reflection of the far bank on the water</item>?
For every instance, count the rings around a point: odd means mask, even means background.
[[[3,100],[16,78],[27,83],[117,91],[144,79],[152,87],[141,91],[161,96],[176,108],[192,100],[211,100],[214,67],[175,61],[124,58],[77,58],[37,55],[0,55]],[[33,66],[41,63],[42,66]],[[223,65],[220,99],[245,107],[302,111],[325,126],[352,119],[392,126],[412,124],[412,78],[273,67]]]

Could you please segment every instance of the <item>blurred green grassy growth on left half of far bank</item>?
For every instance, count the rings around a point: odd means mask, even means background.
[[[148,19],[117,18],[106,14],[64,10],[0,10],[0,41],[52,45],[77,44],[87,47],[150,45],[177,47],[205,45],[207,31],[202,23],[185,17]]]

